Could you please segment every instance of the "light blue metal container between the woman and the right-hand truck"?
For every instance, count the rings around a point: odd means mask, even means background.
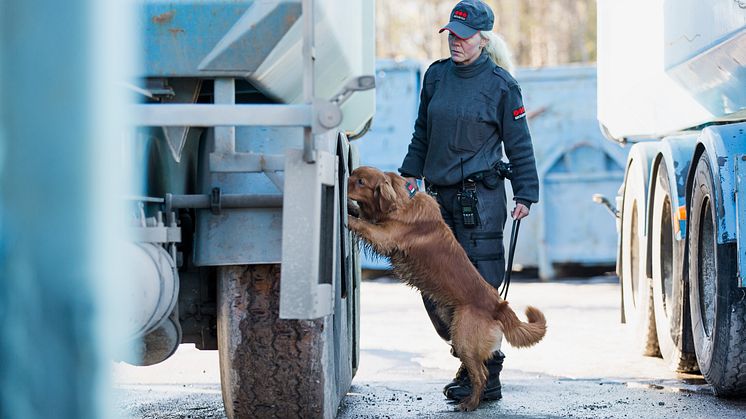
[[[595,67],[519,70],[516,79],[528,112],[541,196],[522,223],[515,263],[538,267],[542,278],[553,277],[558,265],[613,265],[615,223],[591,197],[616,196],[627,150],[606,141],[598,128]]]

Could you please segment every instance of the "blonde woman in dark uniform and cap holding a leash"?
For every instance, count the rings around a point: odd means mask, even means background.
[[[509,73],[504,42],[491,32],[493,23],[492,10],[478,0],[461,1],[451,11],[440,30],[449,32],[451,57],[436,61],[425,73],[412,141],[399,172],[412,184],[415,178],[425,179],[472,263],[498,288],[505,273],[507,219],[505,185],[496,169],[503,146],[512,165],[513,218],[526,217],[531,203],[538,201],[539,180],[521,91]],[[448,308],[424,300],[436,331],[450,341]],[[486,363],[482,400],[502,397],[504,355],[496,349]],[[443,392],[459,401],[471,393],[464,368]]]

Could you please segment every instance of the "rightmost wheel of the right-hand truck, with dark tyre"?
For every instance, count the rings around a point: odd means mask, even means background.
[[[694,348],[715,394],[746,395],[746,298],[737,287],[736,245],[717,243],[715,185],[705,152],[692,184],[689,289]]]

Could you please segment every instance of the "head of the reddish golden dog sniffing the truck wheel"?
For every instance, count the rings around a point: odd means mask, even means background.
[[[393,172],[382,172],[374,167],[361,166],[350,174],[347,196],[360,204],[360,209],[375,219],[395,211],[406,195],[404,178]]]

